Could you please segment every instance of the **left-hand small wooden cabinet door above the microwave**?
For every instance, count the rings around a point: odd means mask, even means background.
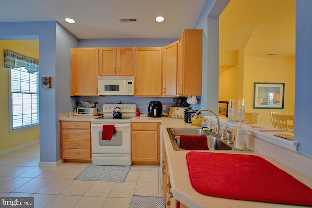
[[[99,76],[116,75],[116,48],[99,48]]]

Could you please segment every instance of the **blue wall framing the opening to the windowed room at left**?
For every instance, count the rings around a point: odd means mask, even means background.
[[[40,160],[60,159],[58,114],[71,109],[67,83],[69,48],[78,47],[78,39],[55,21],[0,23],[0,39],[39,39],[40,77],[52,78],[52,88],[40,88]],[[69,85],[68,85],[69,86]]]

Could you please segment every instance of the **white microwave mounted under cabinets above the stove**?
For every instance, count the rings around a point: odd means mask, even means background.
[[[134,95],[133,76],[98,76],[98,95]]]

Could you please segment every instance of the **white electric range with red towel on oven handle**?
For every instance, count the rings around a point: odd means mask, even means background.
[[[119,107],[122,116],[114,118]],[[136,115],[136,104],[104,104],[103,117],[91,120],[92,164],[131,165],[131,119]],[[102,140],[103,126],[114,125],[111,140]],[[105,133],[105,132],[104,132]]]

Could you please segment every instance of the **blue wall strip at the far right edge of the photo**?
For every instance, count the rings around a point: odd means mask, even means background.
[[[312,0],[296,0],[296,91],[294,137],[312,157]]]

